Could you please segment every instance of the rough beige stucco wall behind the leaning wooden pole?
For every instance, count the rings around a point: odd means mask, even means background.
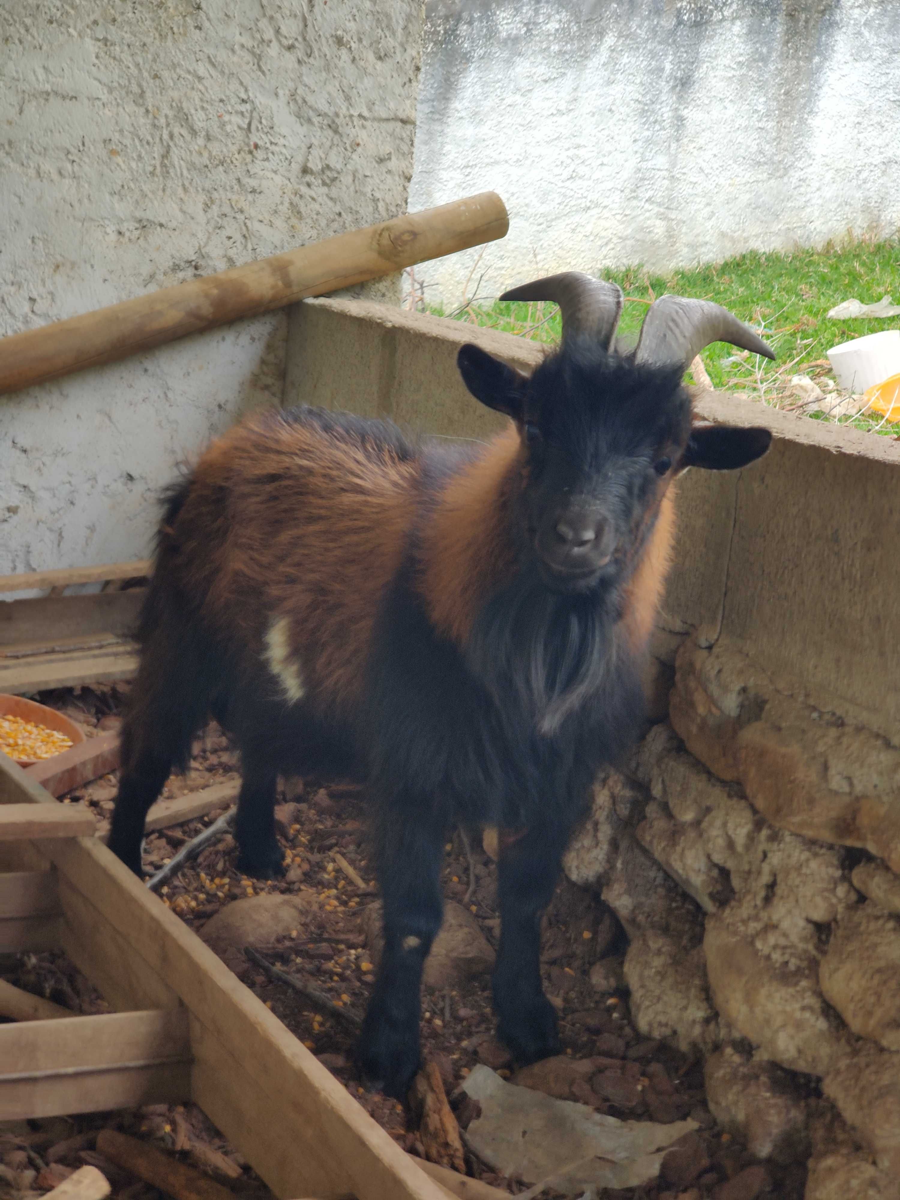
[[[421,20],[420,0],[6,0],[0,334],[406,211]],[[144,554],[176,463],[281,401],[286,329],[0,397],[0,574]]]

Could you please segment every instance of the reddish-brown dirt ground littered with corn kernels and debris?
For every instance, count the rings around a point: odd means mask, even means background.
[[[90,736],[116,726],[126,690],[127,685],[82,688],[38,698],[82,722]],[[236,756],[217,727],[206,730],[194,750],[190,772],[184,778],[173,776],[164,796],[238,778]],[[94,809],[101,832],[108,827],[115,786],[115,776],[104,775],[70,797]],[[242,876],[234,868],[234,840],[226,834],[163,887],[162,899],[191,929],[202,932],[205,923],[234,899],[264,893],[302,896],[308,916],[301,928],[257,949],[270,964],[324,991],[338,1008],[361,1016],[374,982],[362,914],[377,899],[365,792],[341,780],[308,778],[289,781],[280,802],[284,805],[278,809],[278,835],[287,864],[283,880],[263,883]],[[221,811],[150,834],[144,848],[145,869],[163,865]],[[365,888],[353,881],[353,874]],[[472,911],[484,936],[496,947],[499,919],[494,865],[480,845],[473,846],[469,859],[458,833],[448,841],[444,893]],[[559,1010],[564,1051],[572,1058],[598,1060],[596,1074],[580,1085],[581,1091],[576,1085],[572,1098],[624,1120],[667,1123],[690,1116],[700,1127],[682,1140],[683,1146],[676,1145],[680,1154],[671,1152],[671,1163],[664,1163],[658,1181],[626,1190],[601,1189],[600,1200],[800,1200],[804,1165],[766,1163],[761,1169],[736,1139],[716,1127],[706,1105],[702,1064],[665,1044],[641,1038],[630,1022],[624,985],[610,994],[608,983],[595,985],[596,972],[592,983],[592,966],[602,960],[607,977],[614,977],[625,950],[624,932],[598,895],[560,882],[545,918],[542,946],[545,988]],[[240,954],[226,961],[404,1150],[424,1154],[414,1115],[367,1091],[358,1076],[353,1031],[347,1022],[317,1010]],[[61,954],[0,956],[0,977],[73,1012],[106,1010],[102,998]],[[438,1066],[464,1129],[473,1116],[473,1102],[463,1103],[455,1093],[473,1067],[485,1062],[505,1078],[514,1072],[504,1048],[493,1037],[488,977],[445,990],[425,989],[422,1012],[424,1054]],[[268,1194],[203,1114],[186,1105],[0,1123],[0,1196],[37,1198],[59,1182],[61,1172],[91,1162],[112,1172],[116,1200],[154,1200],[152,1188],[98,1159],[92,1145],[104,1127],[151,1139],[238,1193]],[[493,1174],[468,1151],[467,1166],[470,1175],[512,1194],[524,1190],[521,1181]]]

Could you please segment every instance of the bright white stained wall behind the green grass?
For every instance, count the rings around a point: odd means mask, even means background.
[[[410,206],[496,188],[523,276],[900,227],[898,0],[430,0]],[[455,302],[478,251],[416,270]]]

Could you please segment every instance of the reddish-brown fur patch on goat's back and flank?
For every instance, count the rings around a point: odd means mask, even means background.
[[[377,442],[254,414],[198,462],[157,570],[244,656],[262,659],[268,630],[287,618],[306,690],[346,713],[420,503],[420,470]]]

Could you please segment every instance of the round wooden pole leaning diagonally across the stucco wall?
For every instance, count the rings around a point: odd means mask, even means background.
[[[0,395],[504,238],[496,192],[326,238],[0,340]]]

